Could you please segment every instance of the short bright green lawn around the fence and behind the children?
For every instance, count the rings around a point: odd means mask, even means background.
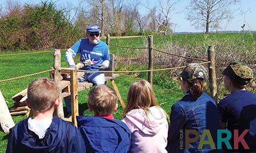
[[[133,39],[132,39],[133,40]],[[140,39],[143,42],[143,39]],[[113,40],[113,42],[118,42],[119,39]],[[130,41],[129,39],[125,42]],[[137,41],[139,42],[139,41]],[[133,43],[133,41],[131,41]],[[129,45],[129,44],[123,44]],[[138,44],[135,44],[136,46]],[[43,51],[43,50],[42,50]],[[113,52],[112,52],[113,51]],[[127,50],[124,50],[126,52]],[[40,71],[48,70],[50,67],[53,67],[53,49],[52,52],[47,53],[35,53],[35,54],[24,54],[24,55],[16,55],[16,53],[32,53],[38,52],[38,50],[31,51],[16,51],[16,52],[3,52],[3,54],[11,54],[10,56],[0,56],[0,61],[2,65],[0,66],[0,80],[14,78],[17,76],[23,76],[27,74],[34,74]],[[121,54],[120,50],[110,48],[110,52],[115,54]],[[64,58],[65,51],[61,52],[61,67],[67,67],[67,63],[65,63]],[[118,66],[119,67],[119,66]],[[157,73],[157,72],[156,72]],[[11,80],[9,82],[1,82],[0,90],[5,97],[6,103],[8,107],[13,106],[14,101],[11,99],[19,91],[24,90],[27,87],[27,84],[32,80],[38,77],[46,76],[49,77],[49,73],[44,73],[40,75],[30,76],[22,79]],[[128,75],[128,74],[119,74],[119,77],[115,79],[115,83],[117,84],[118,90],[123,98],[126,101],[127,92],[129,90],[130,84],[139,79],[147,79],[147,73],[141,73],[136,75]],[[158,78],[153,78],[154,82],[158,82]],[[109,86],[112,84],[109,82]],[[156,99],[159,104],[166,112],[170,113],[171,105],[175,103],[175,101],[179,100],[183,94],[179,87],[179,84],[176,82],[172,83],[172,88],[163,88],[159,84],[154,84],[154,91],[156,95]],[[89,112],[86,106],[86,95],[89,90],[79,92],[79,113],[84,115],[92,115]],[[170,96],[171,95],[171,96]],[[65,105],[65,104],[64,104]],[[65,111],[65,106],[64,106]],[[117,119],[122,119],[123,108],[121,104],[118,102],[118,111],[114,112],[113,115]],[[23,120],[24,116],[13,116],[13,120],[16,123]],[[7,146],[8,134],[0,131],[0,152],[5,152]]]

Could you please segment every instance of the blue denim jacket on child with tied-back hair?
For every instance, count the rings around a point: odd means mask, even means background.
[[[172,105],[167,150],[174,153],[211,152],[213,148],[210,145],[203,145],[203,148],[199,149],[199,142],[203,131],[208,129],[216,146],[218,128],[218,109],[215,101],[204,92],[197,99],[187,92],[181,100]],[[185,133],[188,129],[196,130],[199,133],[199,139],[191,141],[189,147],[186,147]],[[194,134],[188,135],[189,138],[195,136]],[[209,141],[208,137],[204,137],[202,141]]]

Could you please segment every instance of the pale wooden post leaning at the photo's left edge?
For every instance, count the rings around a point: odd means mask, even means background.
[[[10,128],[14,127],[13,118],[11,118],[11,114],[6,105],[6,101],[2,95],[0,90],[0,123],[3,131],[5,133],[9,133]]]

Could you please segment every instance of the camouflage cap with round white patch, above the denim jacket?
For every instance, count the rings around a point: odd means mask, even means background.
[[[189,82],[192,82],[192,80],[196,78],[205,80],[207,79],[207,70],[199,63],[190,63],[181,71],[180,76]]]

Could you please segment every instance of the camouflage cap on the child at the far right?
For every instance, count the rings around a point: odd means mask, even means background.
[[[253,70],[243,62],[232,61],[229,66],[221,72],[221,74],[227,76],[233,73],[242,79],[253,79]]]

